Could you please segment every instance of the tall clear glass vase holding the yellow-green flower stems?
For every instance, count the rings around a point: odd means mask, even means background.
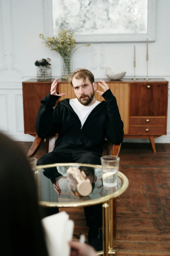
[[[62,57],[61,62],[62,62],[61,63],[61,78],[63,80],[67,80],[68,75],[73,72],[72,57],[70,57],[70,56]]]

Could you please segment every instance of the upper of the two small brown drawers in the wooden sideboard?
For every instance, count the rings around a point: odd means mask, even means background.
[[[153,118],[153,117],[140,117],[140,118],[133,118],[133,117],[130,117],[130,126],[132,125],[163,125],[165,126],[165,117],[156,117],[156,118]]]

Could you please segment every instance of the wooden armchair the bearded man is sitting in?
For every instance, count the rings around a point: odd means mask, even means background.
[[[33,157],[36,154],[36,152],[38,151],[38,149],[43,141],[44,141],[44,139],[41,139],[36,135],[35,140],[27,153],[27,157]],[[54,149],[54,145],[55,145],[55,135],[47,137],[46,138],[46,153],[51,152]],[[121,146],[121,144],[114,145],[114,144],[110,143],[109,141],[107,141],[107,155],[118,156],[119,151],[120,151],[120,146]],[[113,227],[114,227],[113,228],[113,237],[116,237],[116,198],[113,199]]]

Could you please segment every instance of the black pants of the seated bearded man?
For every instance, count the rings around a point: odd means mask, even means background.
[[[100,154],[89,152],[82,149],[70,150],[54,149],[52,152],[45,154],[39,160],[37,165],[50,164],[50,163],[90,163],[101,164]],[[49,215],[58,212],[58,209],[49,209]],[[102,227],[102,204],[84,207],[84,213],[87,221],[87,226],[90,229]]]

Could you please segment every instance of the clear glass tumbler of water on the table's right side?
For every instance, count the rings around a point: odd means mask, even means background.
[[[116,187],[118,184],[118,171],[120,158],[118,156],[103,156],[102,165],[102,181],[105,187]]]

